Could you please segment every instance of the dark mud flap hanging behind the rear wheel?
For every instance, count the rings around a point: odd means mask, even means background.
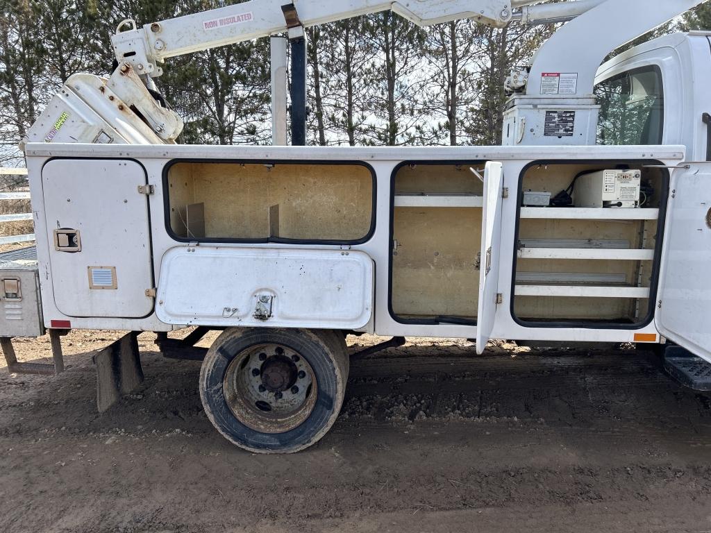
[[[138,334],[132,331],[94,355],[97,407],[103,413],[143,382]]]

